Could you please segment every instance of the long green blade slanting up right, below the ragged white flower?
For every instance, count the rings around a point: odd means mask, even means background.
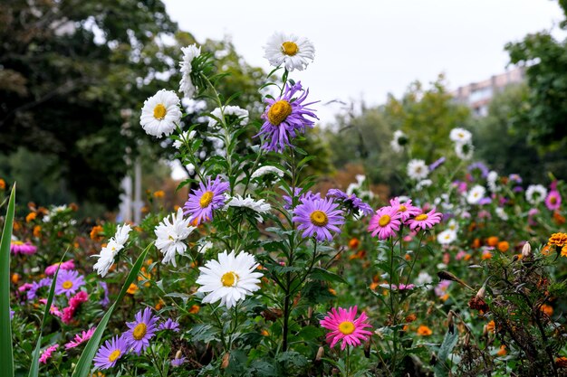
[[[114,304],[112,304],[106,314],[102,317],[101,322],[99,323],[99,325],[97,325],[97,329],[89,340],[89,343],[87,343],[84,350],[82,351],[81,358],[79,359],[75,370],[72,372],[72,377],[87,377],[91,372],[92,359],[94,359],[94,355],[99,348],[102,334],[104,334],[106,325],[108,325],[109,320],[111,319],[114,307],[118,303],[120,303],[122,297],[126,295],[126,291],[128,290],[128,287],[130,287],[130,284],[134,282],[134,279],[138,278],[139,269],[141,269],[141,266],[144,263],[144,259],[146,259],[146,254],[148,254],[148,250],[152,246],[153,243],[150,243],[148,247],[139,255],[136,263],[134,263],[134,266],[132,267],[128,278],[126,278],[122,289],[120,289],[120,294],[118,295],[118,297],[116,297],[116,301],[114,301]]]

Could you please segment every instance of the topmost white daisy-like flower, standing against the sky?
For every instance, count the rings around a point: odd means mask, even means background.
[[[287,71],[303,71],[315,57],[315,46],[307,38],[274,33],[264,46],[264,58],[274,67],[283,64]]]

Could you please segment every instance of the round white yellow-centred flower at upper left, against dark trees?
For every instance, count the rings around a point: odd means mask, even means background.
[[[181,110],[178,96],[172,90],[162,89],[144,102],[139,124],[148,135],[168,137],[173,133],[179,119]]]

